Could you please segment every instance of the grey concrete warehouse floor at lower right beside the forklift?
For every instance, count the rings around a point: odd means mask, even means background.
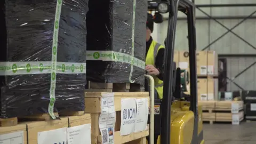
[[[204,124],[205,144],[255,144],[256,122]]]

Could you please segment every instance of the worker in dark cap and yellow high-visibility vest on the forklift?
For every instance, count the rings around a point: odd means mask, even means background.
[[[163,63],[164,63],[164,46],[158,44],[151,37],[154,30],[153,15],[148,13],[147,34],[146,34],[146,71],[148,75],[154,77],[155,80],[155,97],[163,99]],[[145,85],[148,85],[147,82]]]

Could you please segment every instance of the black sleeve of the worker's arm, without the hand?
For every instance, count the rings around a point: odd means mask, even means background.
[[[159,71],[157,77],[163,81],[164,79],[164,49],[159,49],[156,55],[155,66]]]

